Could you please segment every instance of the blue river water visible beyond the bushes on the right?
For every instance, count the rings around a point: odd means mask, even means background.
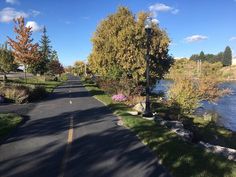
[[[161,80],[156,84],[153,92],[168,91],[172,81]],[[230,88],[232,93],[221,97],[216,103],[202,102],[200,112],[211,112],[217,115],[217,124],[236,131],[236,82],[226,82],[220,85],[222,88]]]

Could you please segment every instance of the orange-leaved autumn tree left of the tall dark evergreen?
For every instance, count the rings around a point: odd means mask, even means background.
[[[31,39],[32,28],[25,26],[23,17],[14,20],[16,26],[14,32],[17,34],[16,40],[8,37],[8,43],[13,49],[13,55],[17,63],[22,64],[25,70],[25,81],[27,82],[26,72],[29,65],[38,62],[40,59],[38,44],[33,44]]]

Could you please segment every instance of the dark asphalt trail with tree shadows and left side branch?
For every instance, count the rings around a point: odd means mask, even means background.
[[[0,177],[170,176],[76,77],[42,102],[0,112],[28,119],[0,145]]]

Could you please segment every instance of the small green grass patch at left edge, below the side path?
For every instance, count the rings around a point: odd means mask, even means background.
[[[16,114],[0,114],[0,140],[14,129],[22,118]]]

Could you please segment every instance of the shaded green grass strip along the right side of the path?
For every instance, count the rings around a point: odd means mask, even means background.
[[[127,114],[124,104],[113,103],[93,84],[85,84],[91,94],[112,108],[144,144],[150,147],[174,177],[236,177],[236,163],[185,142],[165,127]]]

